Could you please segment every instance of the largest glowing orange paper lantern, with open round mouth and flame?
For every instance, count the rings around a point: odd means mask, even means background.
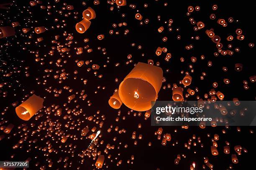
[[[162,85],[163,70],[143,62],[138,64],[119,85],[118,94],[123,104],[136,111],[153,107]]]

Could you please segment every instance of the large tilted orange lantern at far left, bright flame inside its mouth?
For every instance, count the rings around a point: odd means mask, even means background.
[[[15,108],[16,114],[22,120],[29,120],[33,115],[36,114],[38,110],[43,107],[43,102],[43,98],[37,95],[32,95],[28,98],[28,100],[24,101]]]

